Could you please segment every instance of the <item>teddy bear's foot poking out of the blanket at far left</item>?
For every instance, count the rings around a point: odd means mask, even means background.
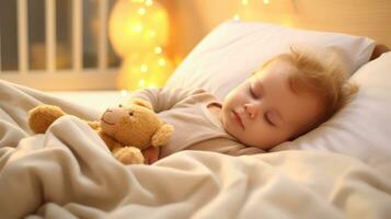
[[[28,111],[28,126],[36,134],[44,134],[47,128],[65,113],[58,106],[38,105]]]

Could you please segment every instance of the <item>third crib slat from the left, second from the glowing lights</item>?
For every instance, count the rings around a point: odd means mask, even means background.
[[[82,19],[83,19],[83,1],[82,0],[73,0],[72,5],[73,5],[73,16],[72,16],[72,51],[73,51],[73,70],[79,72],[82,70],[82,64],[83,64],[83,35],[82,35]]]

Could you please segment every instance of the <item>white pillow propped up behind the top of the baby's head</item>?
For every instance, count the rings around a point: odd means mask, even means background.
[[[353,73],[376,43],[367,37],[303,31],[261,22],[229,21],[207,35],[171,76],[166,88],[204,88],[222,100],[269,58],[291,45],[338,48]]]

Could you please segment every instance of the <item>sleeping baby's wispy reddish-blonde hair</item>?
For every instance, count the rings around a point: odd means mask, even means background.
[[[321,97],[325,112],[314,126],[329,119],[358,91],[358,85],[348,81],[336,53],[330,53],[326,60],[321,60],[315,54],[291,47],[290,53],[272,58],[261,69],[276,60],[287,60],[297,69],[288,78],[294,92],[311,92]]]

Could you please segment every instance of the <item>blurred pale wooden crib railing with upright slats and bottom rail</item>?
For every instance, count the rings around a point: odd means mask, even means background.
[[[96,21],[100,26],[97,32],[96,65],[85,67],[83,65],[83,1],[92,0],[70,0],[71,1],[71,61],[67,69],[58,69],[56,65],[56,55],[58,44],[56,42],[56,3],[62,0],[43,0],[45,1],[45,68],[33,69],[30,66],[30,42],[28,42],[28,1],[16,0],[16,34],[18,34],[18,68],[2,68],[1,57],[7,54],[0,53],[0,79],[11,82],[28,85],[42,90],[102,90],[115,89],[116,69],[118,58],[112,53],[107,39],[107,18],[110,3],[114,0],[94,0],[96,3]],[[84,15],[84,16],[83,16]],[[8,30],[1,30],[5,32]],[[1,37],[1,36],[0,36]],[[3,42],[2,42],[3,43]],[[0,44],[0,46],[2,46]],[[110,50],[111,49],[111,50]],[[1,50],[2,51],[2,50]],[[111,51],[111,53],[110,53]],[[108,57],[111,56],[111,57]],[[116,62],[108,65],[108,58]],[[113,62],[113,61],[112,61]]]

